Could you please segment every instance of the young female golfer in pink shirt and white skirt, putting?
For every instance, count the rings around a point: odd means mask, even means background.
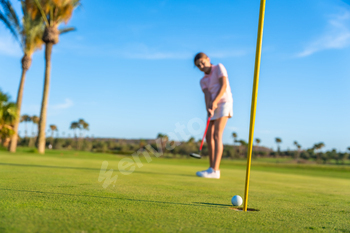
[[[194,64],[204,72],[200,85],[205,97],[206,109],[210,123],[207,131],[209,165],[207,170],[196,173],[199,177],[220,179],[220,161],[224,146],[222,134],[228,118],[233,115],[233,99],[227,71],[222,64],[212,65],[209,57],[198,53]]]

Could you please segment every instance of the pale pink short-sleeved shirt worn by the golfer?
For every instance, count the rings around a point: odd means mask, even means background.
[[[202,90],[208,88],[211,94],[211,100],[213,101],[220,91],[219,78],[225,76],[227,78],[227,88],[218,103],[233,102],[230,83],[228,81],[227,71],[222,64],[212,65],[210,74],[204,75],[200,81]]]

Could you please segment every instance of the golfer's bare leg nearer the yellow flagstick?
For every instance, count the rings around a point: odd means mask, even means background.
[[[222,144],[222,134],[227,123],[228,117],[221,117],[215,120],[214,140],[215,140],[215,156],[214,156],[214,170],[220,170],[220,162],[224,145]]]

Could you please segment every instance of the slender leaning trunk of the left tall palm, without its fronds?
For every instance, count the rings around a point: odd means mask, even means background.
[[[20,122],[20,116],[21,116],[21,107],[22,107],[22,98],[23,98],[23,89],[24,89],[24,81],[26,79],[26,73],[30,67],[31,64],[31,57],[28,55],[24,55],[22,58],[22,75],[21,75],[21,81],[19,83],[18,93],[17,93],[17,120],[14,125],[14,131],[9,146],[9,151],[14,153],[16,152],[17,148],[17,141],[18,141],[18,126]]]

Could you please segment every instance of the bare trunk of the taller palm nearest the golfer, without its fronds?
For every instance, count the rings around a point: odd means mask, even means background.
[[[41,102],[39,136],[38,136],[38,152],[40,154],[45,153],[45,144],[46,144],[45,128],[46,128],[47,104],[49,100],[52,47],[53,47],[53,43],[51,42],[45,44],[45,62],[46,62],[45,80],[44,80],[43,100]]]

